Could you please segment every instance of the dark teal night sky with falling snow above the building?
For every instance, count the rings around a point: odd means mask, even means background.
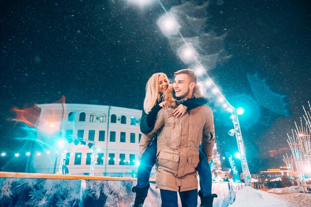
[[[165,72],[173,79],[174,71],[190,67],[158,27],[164,11],[157,1],[145,6],[130,1],[0,2],[0,151],[23,144],[13,139],[25,134],[9,121],[13,107],[53,103],[65,95],[66,103],[141,110],[153,73]],[[170,10],[185,2],[165,0],[164,6]],[[202,48],[222,49],[219,60],[205,67],[234,107],[246,103],[239,121],[251,173],[284,166],[281,156],[268,159],[268,151],[288,147],[287,133],[311,101],[310,8],[309,0],[211,0],[206,7],[204,32],[223,39]],[[286,96],[290,116],[262,107],[264,100],[256,99],[247,79],[254,74]],[[220,153],[234,153],[230,114],[213,98],[210,106]]]

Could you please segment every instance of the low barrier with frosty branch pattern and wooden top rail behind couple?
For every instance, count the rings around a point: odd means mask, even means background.
[[[144,207],[161,206],[155,179],[150,180]],[[0,172],[1,207],[66,206],[66,207],[129,207],[135,194],[131,189],[136,178],[86,175]],[[233,203],[244,183],[213,182],[212,192],[218,194],[214,207]],[[198,200],[200,203],[200,199]]]

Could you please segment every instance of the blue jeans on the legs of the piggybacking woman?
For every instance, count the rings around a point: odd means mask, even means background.
[[[200,176],[200,188],[203,197],[212,194],[212,172],[205,154],[199,149],[199,164],[196,170]],[[137,172],[137,187],[143,188],[149,184],[150,173],[156,164],[156,142],[147,147],[141,157],[141,164]]]

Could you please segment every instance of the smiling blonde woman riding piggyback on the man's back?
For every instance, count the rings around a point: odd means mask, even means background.
[[[153,74],[146,85],[146,97],[144,101],[144,110],[141,119],[141,131],[148,134],[152,131],[156,122],[156,116],[160,109],[167,109],[168,105],[162,100],[162,94],[167,90],[169,81],[164,73]],[[186,110],[191,110],[198,106],[202,106],[208,102],[199,92],[195,92],[193,98],[181,101],[178,107],[173,111],[173,115],[180,118],[184,115]],[[152,167],[156,163],[156,136],[153,142],[148,146],[141,157],[141,164],[138,168],[137,186],[132,188],[133,193],[136,192],[134,207],[142,207],[147,197],[149,189],[149,178]],[[197,166],[197,171],[200,175],[201,197],[211,195],[212,190],[212,174],[207,158],[204,153],[199,150],[200,162]],[[205,182],[203,182],[205,181]],[[201,198],[202,198],[201,197]],[[202,199],[201,199],[202,200]],[[202,201],[201,201],[202,203]],[[202,206],[202,204],[201,204]]]

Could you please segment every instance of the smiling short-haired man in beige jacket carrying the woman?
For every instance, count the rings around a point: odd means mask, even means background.
[[[191,69],[181,69],[175,74],[173,89],[179,101],[191,98],[196,89],[197,76]],[[156,185],[160,189],[162,207],[178,207],[177,192],[183,207],[197,207],[198,180],[195,167],[199,163],[200,141],[202,151],[211,160],[215,142],[213,112],[208,106],[200,106],[175,118],[176,100],[172,88],[166,90],[164,99],[170,106],[157,114],[154,130],[143,135],[140,155],[158,132],[156,156]],[[213,205],[215,194],[204,198],[206,207]],[[202,201],[202,197],[201,197]],[[201,205],[202,206],[202,205]]]

